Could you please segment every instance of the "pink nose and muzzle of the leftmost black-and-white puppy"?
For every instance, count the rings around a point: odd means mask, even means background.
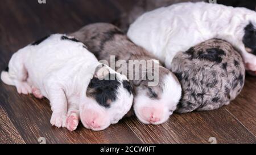
[[[104,115],[95,110],[86,109],[81,115],[81,121],[90,128],[100,128],[104,122]]]

